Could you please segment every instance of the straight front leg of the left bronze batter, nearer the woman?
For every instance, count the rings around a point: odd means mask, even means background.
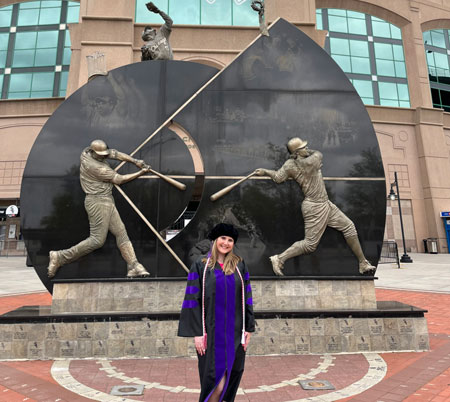
[[[117,247],[122,254],[122,258],[127,263],[127,276],[149,276],[150,274],[136,258],[133,244],[131,244],[131,241],[128,238],[127,230],[122,222],[122,219],[120,218],[119,212],[117,211],[116,207],[114,207],[114,210],[111,214],[109,230],[116,237]]]

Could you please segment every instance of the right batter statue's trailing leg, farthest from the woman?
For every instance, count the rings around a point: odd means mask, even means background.
[[[330,214],[330,221],[328,225],[334,229],[339,230],[344,235],[345,241],[352,250],[353,254],[358,259],[359,272],[361,274],[373,273],[375,267],[369,261],[367,261],[366,257],[364,256],[364,252],[361,248],[361,243],[358,239],[358,232],[356,231],[355,224],[336,205],[332,204],[331,208],[332,212]]]

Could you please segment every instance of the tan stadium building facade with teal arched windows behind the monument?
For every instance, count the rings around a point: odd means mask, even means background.
[[[19,218],[2,211],[20,206],[40,129],[87,82],[87,56],[103,53],[107,70],[140,61],[143,28],[163,22],[144,3],[0,0],[0,252],[19,244]],[[155,3],[174,20],[177,60],[223,68],[259,33],[250,0]],[[366,104],[386,195],[397,172],[407,250],[423,252],[431,237],[448,253],[440,212],[450,211],[450,0],[265,3],[267,22],[285,18],[324,47]],[[385,238],[401,244],[397,202],[388,201]]]

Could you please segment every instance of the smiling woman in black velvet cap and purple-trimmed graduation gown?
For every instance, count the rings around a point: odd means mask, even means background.
[[[216,225],[208,238],[211,251],[192,264],[188,275],[178,336],[195,337],[199,401],[231,402],[255,331],[250,275],[233,253],[238,232],[232,225]]]

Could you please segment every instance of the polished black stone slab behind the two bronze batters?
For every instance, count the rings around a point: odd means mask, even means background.
[[[39,277],[48,252],[88,236],[79,187],[81,150],[95,138],[131,152],[217,70],[187,62],[135,63],[97,77],[70,96],[37,138],[22,182],[22,228]],[[122,186],[149,221],[162,231],[186,208],[189,225],[169,241],[189,265],[205,251],[208,229],[218,221],[238,226],[237,252],[252,275],[274,277],[268,257],[304,236],[302,194],[293,182],[249,180],[213,203],[212,193],[258,167],[278,168],[288,158],[287,140],[300,136],[323,153],[322,173],[330,199],[356,224],[367,258],[376,264],[385,221],[385,181],[377,139],[358,94],[327,53],[287,21],[260,37],[199,92],[174,121],[196,143],[204,166],[193,168],[182,139],[164,128],[136,157],[162,173],[188,175],[183,193],[161,180]],[[134,171],[126,164],[121,173]],[[136,254],[153,277],[185,277],[170,253],[115,192]],[[193,202],[195,201],[195,202]],[[194,205],[195,204],[195,205]],[[206,249],[208,244],[206,244]],[[288,276],[359,276],[356,258],[340,233],[327,229],[318,249],[286,263]],[[121,278],[126,274],[114,238],[62,268],[59,279]]]

